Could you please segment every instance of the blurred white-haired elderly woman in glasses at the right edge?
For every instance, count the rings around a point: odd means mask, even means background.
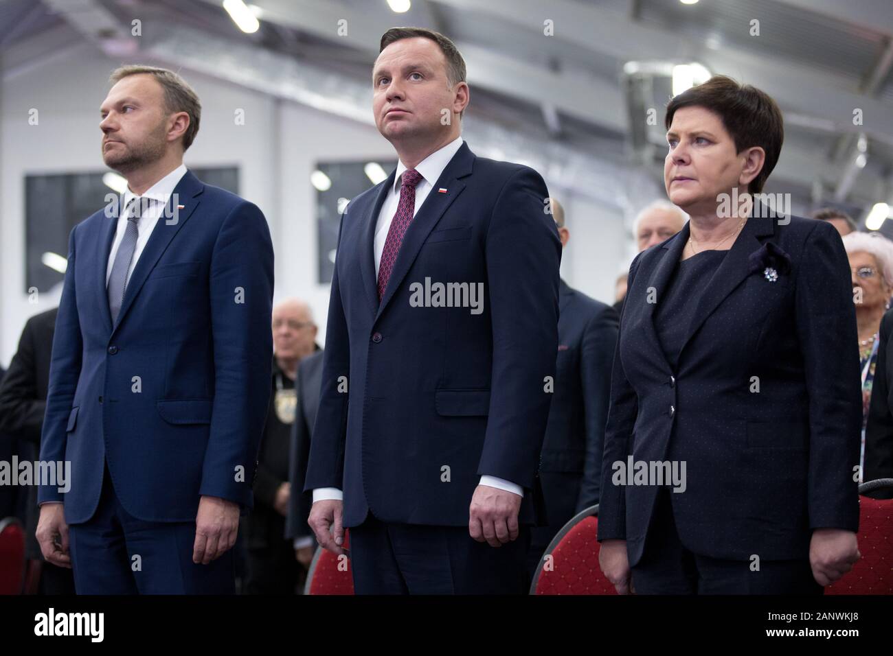
[[[864,472],[865,428],[882,345],[879,335],[880,320],[889,310],[890,295],[893,294],[893,243],[876,232],[851,232],[843,237],[843,245],[849,259],[855,322],[858,328],[863,410],[859,465],[860,471]],[[886,353],[886,349],[884,351]],[[881,369],[881,374],[886,374],[886,368]]]

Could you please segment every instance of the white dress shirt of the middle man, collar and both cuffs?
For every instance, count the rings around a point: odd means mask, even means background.
[[[421,180],[415,186],[415,207],[413,208],[413,217],[415,212],[419,211],[421,203],[425,202],[430,191],[437,183],[440,174],[447,168],[447,164],[453,159],[453,156],[462,147],[462,137],[455,137],[447,145],[434,151],[428,157],[419,162],[415,167],[421,173]],[[403,162],[397,162],[396,175],[394,176],[394,185],[388,189],[388,197],[381,205],[378,222],[375,224],[375,277],[379,276],[379,264],[381,262],[381,253],[385,250],[385,242],[388,240],[388,229],[390,229],[391,221],[394,220],[396,207],[400,203],[400,186],[401,178],[406,165]],[[495,476],[481,476],[480,485],[488,487],[496,487],[499,490],[513,492],[519,496],[524,495],[522,486],[519,486],[505,478]],[[344,498],[344,494],[338,487],[318,487],[313,490],[313,502],[323,501],[325,499],[336,499],[338,501]]]

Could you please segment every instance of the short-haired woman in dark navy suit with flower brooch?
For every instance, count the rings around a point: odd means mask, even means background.
[[[667,106],[690,216],[630,266],[599,562],[618,592],[821,594],[859,558],[862,395],[838,232],[774,216],[778,106],[714,77]]]

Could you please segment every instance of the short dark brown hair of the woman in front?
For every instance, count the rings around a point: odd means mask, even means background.
[[[714,75],[703,84],[673,96],[663,119],[666,129],[670,129],[676,110],[694,106],[704,107],[720,117],[739,153],[755,145],[763,148],[766,154],[763,169],[747,185],[750,193],[760,193],[779,161],[784,142],[784,119],[778,104],[756,87],[740,85],[725,75]]]

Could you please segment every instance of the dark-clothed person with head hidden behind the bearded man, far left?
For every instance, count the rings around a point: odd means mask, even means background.
[[[0,432],[27,444],[29,460],[40,453],[40,431],[44,425],[46,390],[53,355],[53,332],[58,308],[40,312],[25,322],[19,350],[13,355],[9,371],[0,385]],[[20,460],[23,457],[20,453]],[[29,561],[40,564],[39,591],[43,594],[74,594],[71,569],[44,561],[38,536],[38,487],[30,486],[25,509],[25,527]]]

